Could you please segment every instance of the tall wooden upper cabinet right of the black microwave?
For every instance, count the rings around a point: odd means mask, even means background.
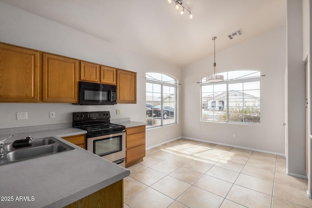
[[[137,73],[117,69],[117,103],[137,103]]]

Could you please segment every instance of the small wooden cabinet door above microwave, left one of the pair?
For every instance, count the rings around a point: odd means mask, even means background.
[[[85,61],[80,62],[80,80],[98,82],[99,65]]]

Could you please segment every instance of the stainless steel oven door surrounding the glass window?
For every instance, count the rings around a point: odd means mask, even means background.
[[[87,150],[118,164],[126,158],[126,133],[87,138]]]

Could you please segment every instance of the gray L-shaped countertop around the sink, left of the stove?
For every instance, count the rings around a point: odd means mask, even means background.
[[[14,141],[24,135],[31,135],[36,139],[82,133],[86,132],[64,128],[18,133],[10,140]],[[0,140],[5,136],[0,135]],[[8,141],[9,139],[6,142]],[[72,143],[62,141],[76,150],[0,166],[0,207],[64,207],[129,176],[129,170]],[[11,198],[13,201],[8,201]]]

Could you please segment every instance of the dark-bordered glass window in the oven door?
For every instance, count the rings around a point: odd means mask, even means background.
[[[104,156],[122,150],[122,136],[97,139],[93,141],[93,153]]]

